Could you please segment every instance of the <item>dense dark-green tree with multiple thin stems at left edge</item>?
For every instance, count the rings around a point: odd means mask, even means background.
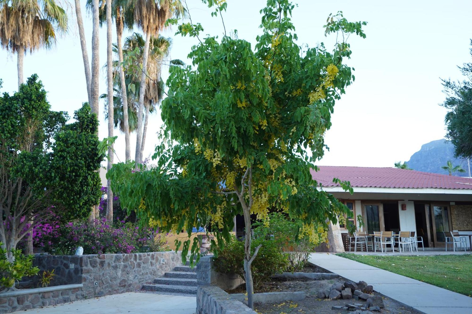
[[[0,98],[0,241],[9,261],[42,219],[85,218],[100,200],[96,116],[85,103],[66,124],[67,114],[50,107],[36,74]]]

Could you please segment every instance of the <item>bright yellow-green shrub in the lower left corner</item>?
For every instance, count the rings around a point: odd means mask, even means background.
[[[0,291],[13,287],[15,281],[24,276],[34,276],[39,272],[38,267],[33,267],[34,256],[24,255],[19,249],[12,249],[15,259],[10,262],[7,259],[7,250],[1,248],[2,246],[3,243],[0,242]]]

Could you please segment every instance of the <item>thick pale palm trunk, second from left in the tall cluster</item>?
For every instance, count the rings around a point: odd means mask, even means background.
[[[90,82],[90,107],[92,112],[99,117],[98,97],[99,97],[99,70],[100,70],[100,20],[99,20],[99,0],[92,0],[92,74]],[[100,120],[99,120],[100,121]]]

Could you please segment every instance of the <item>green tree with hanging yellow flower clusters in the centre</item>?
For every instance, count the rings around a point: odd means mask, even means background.
[[[212,15],[226,10],[225,2],[218,3]],[[162,231],[190,234],[202,226],[223,246],[234,216],[243,214],[250,307],[251,264],[263,245],[250,249],[251,214],[267,220],[270,209],[284,211],[302,221],[299,237],[319,243],[326,240],[330,222],[351,213],[312,180],[310,169],[318,170],[313,163],[323,156],[335,101],[354,80],[343,63],[352,51],[344,40],[332,52],[322,43],[298,46],[293,8],[288,0],[267,1],[255,50],[227,35],[202,41],[200,24],[180,25],[177,33],[200,43],[188,55],[195,68],[169,69],[169,96],[161,105],[169,144],[156,148],[157,165],[151,170],[132,171],[134,163],[121,163],[107,174],[122,206]],[[351,33],[365,37],[365,24],[348,22],[339,12],[325,27],[327,34],[347,39]],[[352,191],[348,182],[334,182]],[[193,264],[199,259],[198,240],[182,243],[184,260],[189,249]]]

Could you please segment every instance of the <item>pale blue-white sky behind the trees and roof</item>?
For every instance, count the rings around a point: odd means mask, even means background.
[[[227,31],[237,29],[238,37],[255,44],[261,33],[259,10],[265,0],[228,0],[223,13]],[[85,1],[81,1],[85,5]],[[222,35],[221,19],[211,17],[211,10],[201,0],[187,0],[193,22],[200,22],[203,34]],[[333,36],[324,36],[323,25],[329,13],[341,10],[349,21],[367,21],[366,39],[351,36],[353,54],[346,61],[355,68],[355,82],[335,105],[332,127],[326,133],[329,151],[318,165],[389,167],[405,161],[421,145],[445,137],[446,109],[441,78],[462,79],[457,68],[470,62],[472,28],[470,0],[298,0],[293,23],[298,43],[310,47],[324,42],[332,47]],[[27,54],[24,77],[38,74],[48,91],[52,110],[74,110],[87,100],[84,65],[77,31],[75,10],[68,8],[69,31],[58,36],[56,47]],[[91,14],[82,8],[88,54],[91,56]],[[135,32],[140,30],[135,29]],[[116,31],[113,27],[113,41]],[[173,37],[170,58],[187,58],[196,39],[174,36],[175,29],[164,35]],[[125,33],[125,36],[130,33]],[[106,62],[106,29],[100,32],[100,63]],[[105,72],[101,70],[100,93],[106,92]],[[163,69],[163,78],[168,69]],[[17,90],[17,57],[0,50],[1,92]],[[101,102],[101,108],[104,103]],[[100,113],[99,137],[108,136],[107,122]],[[156,132],[162,125],[160,112],[151,116],[144,157],[152,155],[158,144]],[[115,162],[125,156],[124,134],[115,130]],[[131,136],[134,156],[135,136]],[[118,160],[117,160],[118,159]]]

